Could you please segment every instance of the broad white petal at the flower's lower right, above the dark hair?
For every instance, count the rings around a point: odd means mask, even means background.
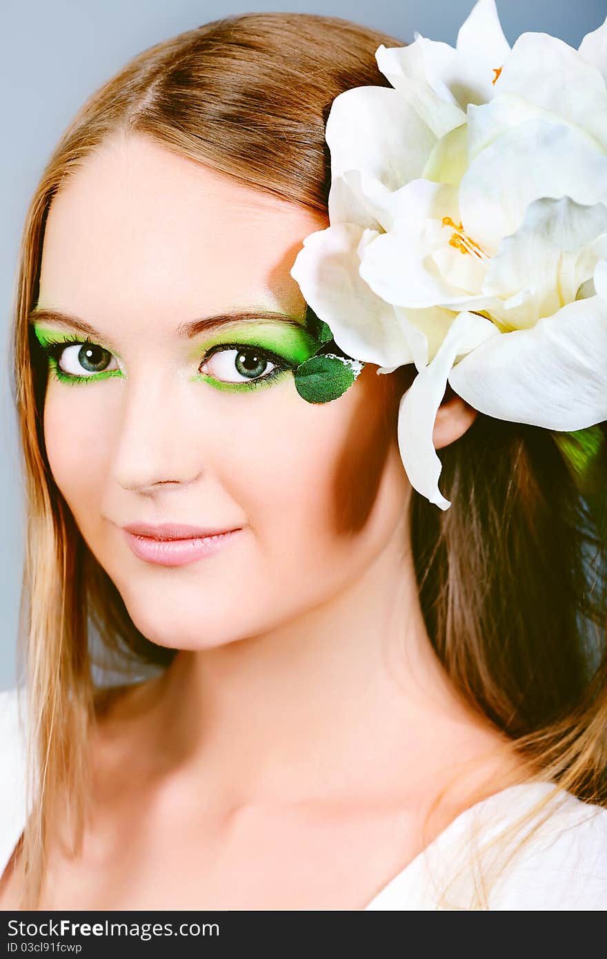
[[[501,333],[457,363],[449,383],[496,419],[573,431],[607,419],[607,300],[575,300],[528,330]]]

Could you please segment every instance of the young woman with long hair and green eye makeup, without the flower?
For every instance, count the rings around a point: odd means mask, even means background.
[[[441,513],[399,456],[411,364],[293,385],[326,347],[291,269],[329,222],[327,112],[399,42],[207,24],[94,94],[41,178],[5,909],[607,905],[597,533],[552,438],[447,390]]]

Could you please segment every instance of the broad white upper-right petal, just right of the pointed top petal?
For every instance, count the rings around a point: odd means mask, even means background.
[[[600,71],[549,34],[523,34],[505,60],[496,95],[521,97],[585,130],[607,150],[607,89]]]

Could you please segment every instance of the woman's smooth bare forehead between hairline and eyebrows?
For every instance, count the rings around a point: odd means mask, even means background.
[[[38,306],[170,322],[228,309],[302,313],[290,276],[328,218],[274,199],[144,136],[114,136],[53,200]]]

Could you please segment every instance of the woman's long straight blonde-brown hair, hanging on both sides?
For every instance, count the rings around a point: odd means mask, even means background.
[[[159,43],[82,106],[35,190],[12,340],[27,496],[19,636],[30,731],[24,908],[38,901],[56,803],[67,802],[74,847],[82,842],[86,745],[99,698],[95,667],[132,677],[162,670],[175,655],[136,629],[49,468],[42,429],[47,371],[36,363],[28,330],[49,206],[86,156],[123,130],[326,212],[327,115],[345,89],[389,85],[374,57],[381,43],[403,45],[305,13],[227,16]],[[604,528],[593,524],[546,431],[479,414],[441,459],[441,490],[455,505],[442,512],[413,492],[410,506],[420,599],[436,655],[455,689],[529,768],[607,805]]]

